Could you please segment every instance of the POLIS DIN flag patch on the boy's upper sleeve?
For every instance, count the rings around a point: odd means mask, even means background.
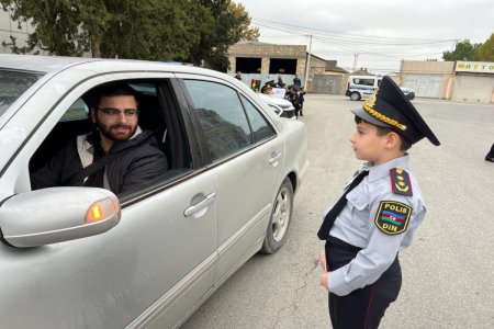
[[[412,207],[397,201],[381,201],[374,223],[386,235],[398,235],[408,227]]]

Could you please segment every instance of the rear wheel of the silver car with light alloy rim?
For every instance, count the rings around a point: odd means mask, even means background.
[[[289,178],[285,178],[278,191],[271,212],[262,253],[274,253],[287,240],[287,232],[292,219],[293,186]]]

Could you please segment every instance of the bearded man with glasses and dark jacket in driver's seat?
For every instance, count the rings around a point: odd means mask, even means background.
[[[93,186],[120,194],[135,191],[168,169],[153,133],[137,124],[138,98],[131,87],[102,86],[91,95],[94,129],[77,136],[33,173],[33,190]]]

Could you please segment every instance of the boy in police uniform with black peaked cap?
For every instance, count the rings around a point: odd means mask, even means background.
[[[400,293],[398,251],[409,247],[425,217],[420,188],[406,150],[427,137],[439,140],[389,77],[361,109],[352,110],[356,158],[368,161],[325,214],[317,232],[321,285],[329,292],[333,328],[378,328]]]

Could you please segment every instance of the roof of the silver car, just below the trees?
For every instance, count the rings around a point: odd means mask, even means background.
[[[43,73],[56,73],[70,67],[79,66],[81,69],[91,70],[94,73],[110,71],[131,70],[159,70],[183,73],[201,73],[225,79],[227,75],[210,69],[169,64],[162,61],[147,61],[135,59],[108,59],[90,57],[63,57],[0,54],[0,69],[34,71]],[[110,68],[110,69],[109,69]],[[228,78],[226,78],[228,79]],[[231,78],[232,80],[235,80]],[[228,79],[229,80],[229,79]]]

